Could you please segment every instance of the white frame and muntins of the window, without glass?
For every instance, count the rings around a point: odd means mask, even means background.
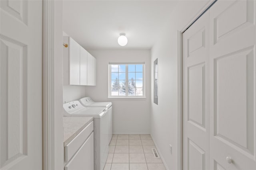
[[[118,65],[118,64],[123,64],[125,65],[125,82],[126,82],[126,95],[125,96],[112,96],[112,78],[111,78],[111,65]],[[128,65],[129,64],[142,64],[142,96],[129,96],[128,95]],[[135,72],[136,74],[136,72]],[[119,79],[118,79],[119,81]],[[135,79],[136,81],[136,79]],[[134,62],[108,62],[108,98],[124,98],[124,99],[129,99],[129,98],[146,98],[145,95],[145,62],[144,61],[134,61]],[[136,91],[135,91],[136,94]]]

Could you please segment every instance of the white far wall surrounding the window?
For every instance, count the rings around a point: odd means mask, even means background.
[[[113,103],[113,133],[150,133],[150,50],[88,50],[97,59],[97,86],[86,86],[86,96]],[[146,99],[108,99],[108,62],[145,61]]]

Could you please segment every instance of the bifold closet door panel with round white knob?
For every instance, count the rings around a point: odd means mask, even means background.
[[[256,169],[256,1],[210,8],[210,168]],[[229,162],[228,162],[229,161]]]

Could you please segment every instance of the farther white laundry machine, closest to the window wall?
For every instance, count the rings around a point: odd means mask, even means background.
[[[113,111],[112,111],[112,102],[94,102],[90,97],[84,97],[79,100],[79,102],[84,107],[107,107],[108,108],[108,142],[110,143],[112,135],[113,135]]]

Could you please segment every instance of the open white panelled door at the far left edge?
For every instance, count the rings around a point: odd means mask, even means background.
[[[1,0],[0,168],[42,169],[42,0]]]

